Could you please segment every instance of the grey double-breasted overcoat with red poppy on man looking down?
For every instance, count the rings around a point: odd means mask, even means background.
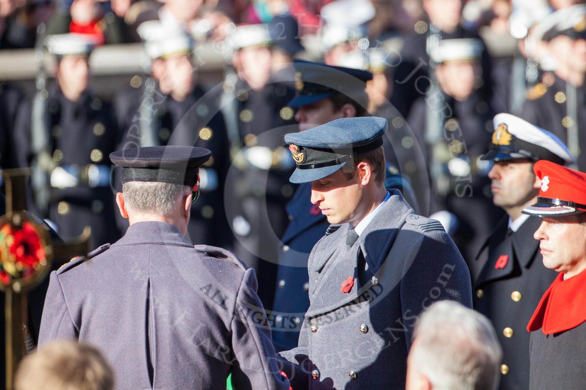
[[[352,246],[346,223],[311,251],[299,347],[279,354],[295,390],[402,390],[417,315],[441,299],[472,307],[470,274],[454,242],[439,222],[414,215],[400,191],[390,192]]]

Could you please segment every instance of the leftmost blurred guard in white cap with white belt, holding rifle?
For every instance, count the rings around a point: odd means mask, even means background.
[[[16,117],[14,153],[19,167],[32,166],[33,197],[42,218],[63,238],[91,227],[99,246],[119,236],[113,225],[108,154],[120,140],[111,105],[88,88],[87,36],[61,34],[46,39],[56,56],[56,85],[23,101]]]

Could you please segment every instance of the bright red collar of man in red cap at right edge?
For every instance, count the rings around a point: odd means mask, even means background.
[[[553,334],[573,329],[586,321],[585,306],[586,271],[567,280],[560,273],[541,297],[527,330]]]

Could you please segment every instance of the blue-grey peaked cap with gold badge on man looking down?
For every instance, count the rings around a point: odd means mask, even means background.
[[[305,183],[333,174],[354,156],[382,146],[387,126],[386,119],[376,116],[341,118],[303,132],[285,134],[297,164],[289,181]]]

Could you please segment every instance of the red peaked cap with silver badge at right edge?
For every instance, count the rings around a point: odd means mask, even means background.
[[[547,160],[537,161],[533,171],[541,180],[539,198],[523,213],[561,217],[586,211],[586,173]]]

